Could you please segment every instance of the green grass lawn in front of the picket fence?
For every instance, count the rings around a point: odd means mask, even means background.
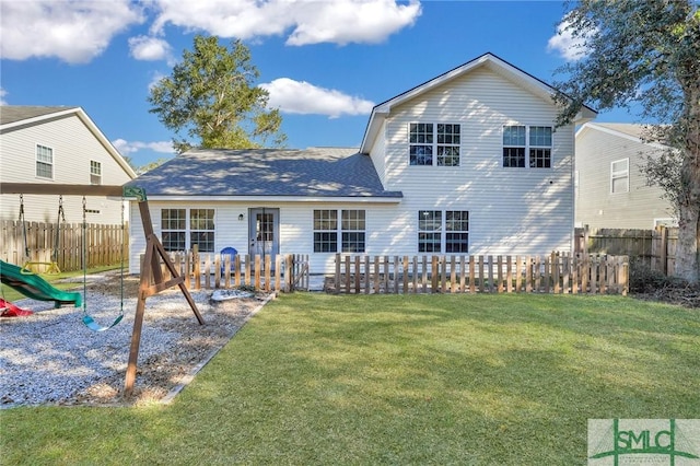
[[[585,464],[697,418],[700,313],[619,296],[282,295],[170,406],[0,411],[3,464]],[[137,381],[138,383],[138,381]]]

